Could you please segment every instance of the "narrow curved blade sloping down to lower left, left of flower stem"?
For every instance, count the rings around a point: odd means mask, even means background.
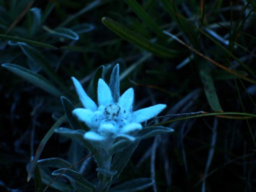
[[[66,119],[65,116],[60,117],[51,127],[51,129],[47,132],[47,134],[45,135],[45,137],[41,140],[36,152],[35,152],[35,156],[29,166],[29,171],[28,171],[28,177],[27,177],[27,181],[29,182],[30,179],[32,178],[32,175],[34,173],[35,167],[36,167],[36,163],[42,153],[42,150],[44,149],[47,141],[50,139],[50,137],[52,136],[52,134],[54,133],[54,130],[59,127],[63,121]]]

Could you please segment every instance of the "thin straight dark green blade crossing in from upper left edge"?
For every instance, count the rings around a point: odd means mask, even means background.
[[[31,46],[37,46],[37,47],[43,47],[43,48],[49,48],[49,49],[58,49],[55,46],[49,45],[49,44],[44,44],[43,42],[38,42],[34,40],[29,40],[25,38],[20,38],[20,37],[14,37],[10,35],[1,35],[0,34],[0,39],[6,39],[6,40],[13,40],[17,42],[25,42],[26,44],[29,44]]]

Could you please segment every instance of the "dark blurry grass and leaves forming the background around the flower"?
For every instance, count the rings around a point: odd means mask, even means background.
[[[26,166],[65,114],[59,96],[77,103],[71,76],[93,96],[95,70],[105,65],[108,79],[116,63],[121,93],[135,89],[134,108],[166,103],[154,123],[175,130],[142,141],[120,182],[152,177],[158,191],[256,189],[254,1],[23,0],[0,6],[4,191],[35,190],[26,182]],[[57,134],[48,139],[40,159],[74,164],[87,156]],[[93,167],[85,177],[95,176]]]

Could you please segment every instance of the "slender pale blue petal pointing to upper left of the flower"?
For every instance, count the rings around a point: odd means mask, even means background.
[[[83,90],[81,83],[75,78],[71,77],[73,80],[76,93],[79,96],[79,99],[83,105],[84,108],[96,111],[97,110],[97,105],[95,102],[86,94],[86,92]]]

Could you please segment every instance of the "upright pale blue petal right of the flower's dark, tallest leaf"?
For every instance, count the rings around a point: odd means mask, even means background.
[[[133,101],[134,101],[134,90],[130,88],[126,90],[122,96],[120,97],[118,104],[125,110],[124,113],[129,113],[132,111],[133,108]]]

